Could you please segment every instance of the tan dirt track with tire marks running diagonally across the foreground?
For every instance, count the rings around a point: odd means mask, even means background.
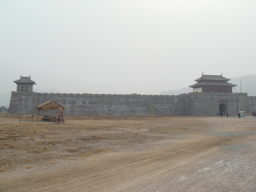
[[[170,142],[166,140],[165,147],[154,147],[143,151],[111,156],[106,155],[107,157],[103,160],[90,161],[90,165],[83,163],[83,166],[67,167],[62,171],[9,181],[2,187],[3,190],[9,191],[17,188],[22,189],[20,191],[58,191],[64,186],[68,191],[73,191],[74,187],[78,191],[79,189],[98,191],[100,188],[113,189],[123,180],[126,188],[133,185],[133,182],[128,184],[131,178],[143,181],[158,177],[166,172],[175,175],[178,172],[178,167],[182,167],[206,153],[211,153],[219,146],[226,145],[232,140],[204,134],[201,137],[203,138],[200,140],[181,141],[173,146],[168,146]],[[70,178],[75,178],[72,181],[74,185],[72,187],[70,187]],[[9,188],[10,186],[12,186],[12,189]]]

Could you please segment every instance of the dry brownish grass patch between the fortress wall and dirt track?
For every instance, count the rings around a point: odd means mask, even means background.
[[[0,171],[26,164],[55,164],[67,157],[88,157],[115,151],[117,146],[136,147],[161,140],[164,135],[170,137],[178,130],[191,131],[190,125],[207,126],[198,117],[64,118],[65,124],[39,121],[19,124],[1,119]]]

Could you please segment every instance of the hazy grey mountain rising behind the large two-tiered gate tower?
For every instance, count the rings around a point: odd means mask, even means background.
[[[232,84],[236,84],[236,87],[233,87],[233,92],[245,92],[248,94],[248,96],[256,96],[256,89],[253,88],[255,87],[254,84],[256,84],[256,75],[243,75],[241,77],[232,77],[229,78],[230,83]],[[241,81],[241,84],[240,84]],[[192,92],[192,88],[191,87],[184,87],[180,90],[172,90],[172,91],[163,91],[161,93],[159,93],[158,95],[179,95],[182,93],[189,93]]]

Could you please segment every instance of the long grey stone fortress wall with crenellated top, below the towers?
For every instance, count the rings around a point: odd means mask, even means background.
[[[66,107],[64,115],[217,115],[219,106],[225,112],[246,115],[256,111],[256,97],[247,93],[191,92],[180,95],[104,95],[12,92],[9,113],[37,114],[36,106],[56,101]],[[40,115],[53,111],[40,111]]]

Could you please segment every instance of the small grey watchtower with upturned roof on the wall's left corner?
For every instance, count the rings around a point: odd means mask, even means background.
[[[22,77],[20,79],[13,81],[17,84],[17,92],[33,92],[33,85],[36,85],[35,81],[31,80],[29,77]]]

